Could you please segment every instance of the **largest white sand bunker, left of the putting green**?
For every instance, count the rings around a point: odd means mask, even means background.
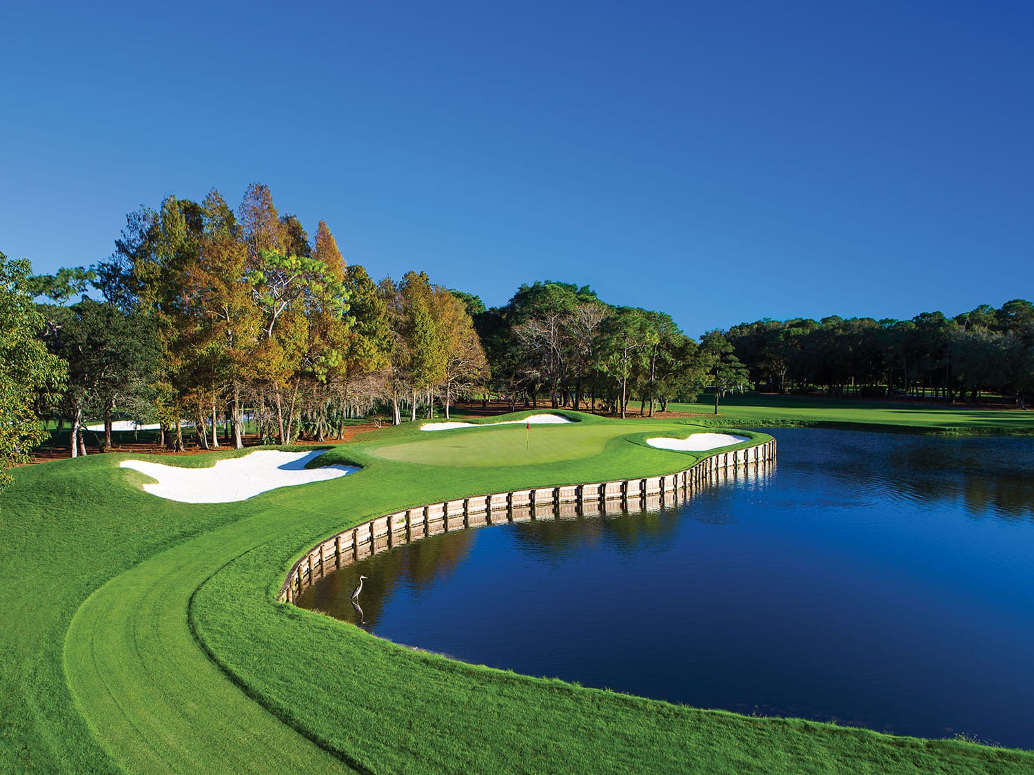
[[[157,484],[144,485],[144,490],[160,498],[181,503],[230,503],[280,487],[326,482],[359,470],[342,465],[305,467],[324,452],[258,450],[243,458],[219,460],[208,468],[181,468],[143,460],[123,460],[121,467],[132,468],[157,479]]]

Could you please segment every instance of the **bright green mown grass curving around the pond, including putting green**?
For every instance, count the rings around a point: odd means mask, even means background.
[[[519,447],[521,426],[385,429],[324,456],[365,466],[359,473],[240,503],[148,495],[143,475],[117,467],[124,455],[19,469],[0,497],[0,769],[1034,767],[1022,751],[696,710],[479,668],[273,601],[301,552],[369,517],[492,491],[668,473],[699,457],[642,444],[685,436],[685,425],[582,417],[533,426],[531,443],[550,444],[520,465],[487,464],[484,446],[513,437]],[[547,452],[553,432],[569,434],[566,457]],[[408,447],[410,461],[392,459],[393,446]],[[477,448],[482,465],[442,464],[435,447],[457,459]]]

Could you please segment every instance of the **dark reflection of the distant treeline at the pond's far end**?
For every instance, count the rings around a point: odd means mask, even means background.
[[[1034,440],[1029,438],[802,433],[833,437],[825,448],[821,437],[814,445],[797,445],[792,463],[784,454],[783,465],[835,476],[859,494],[929,507],[961,504],[973,519],[1034,520]]]

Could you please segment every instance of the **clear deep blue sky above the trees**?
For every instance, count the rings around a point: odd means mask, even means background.
[[[551,278],[699,335],[1034,298],[1029,1],[217,5],[0,11],[0,250],[93,264],[260,181],[489,305]]]

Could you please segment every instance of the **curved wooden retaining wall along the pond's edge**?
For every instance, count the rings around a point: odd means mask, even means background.
[[[692,468],[665,476],[475,495],[387,514],[312,547],[291,568],[276,599],[294,602],[297,595],[326,574],[428,535],[503,522],[620,514],[630,502],[646,508],[675,505],[710,485],[721,473],[728,475],[731,470],[735,474],[738,466],[759,466],[773,460],[776,439],[770,439],[711,455]]]

